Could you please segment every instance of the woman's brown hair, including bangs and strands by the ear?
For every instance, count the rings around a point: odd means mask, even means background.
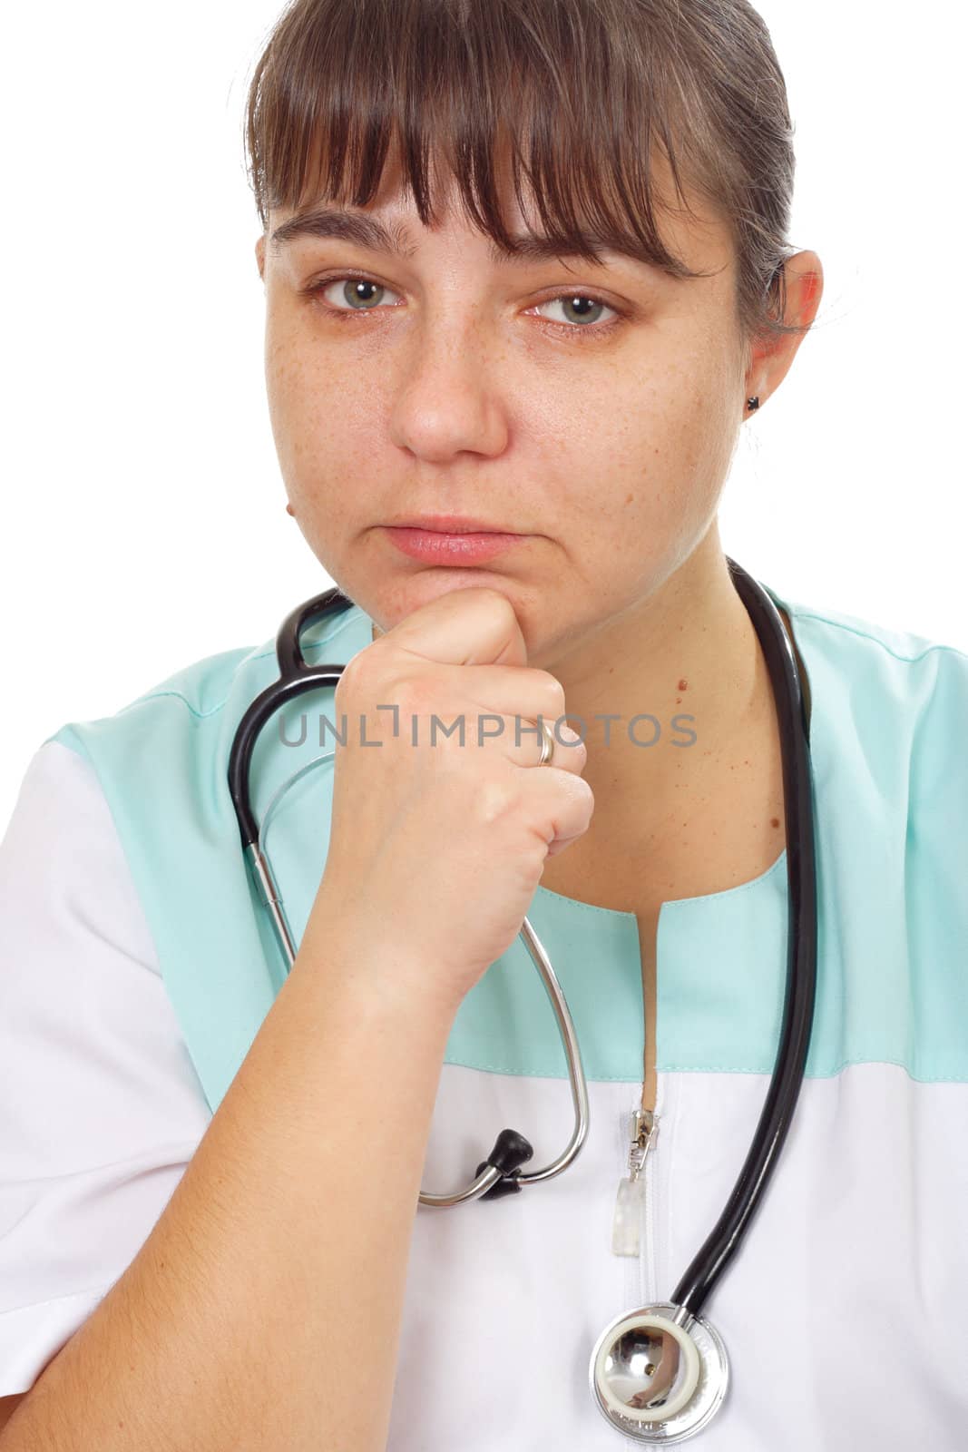
[[[509,144],[541,225],[595,260],[630,251],[701,277],[666,250],[650,177],[660,147],[730,229],[746,346],[782,322],[795,158],[787,87],[749,0],[290,0],[245,107],[247,173],[268,209],[303,196],[366,206],[396,139],[403,186],[434,225],[428,150],[443,151],[473,225],[514,251],[495,186]],[[522,206],[524,211],[524,206]]]

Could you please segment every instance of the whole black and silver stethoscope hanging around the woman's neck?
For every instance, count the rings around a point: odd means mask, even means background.
[[[713,1227],[672,1292],[670,1301],[624,1311],[598,1337],[589,1362],[595,1404],[617,1430],[640,1442],[682,1442],[708,1424],[723,1403],[730,1378],[723,1337],[701,1314],[717,1281],[739,1250],[769,1178],[776,1169],[804,1077],[813,1027],[817,979],[817,881],[814,864],[813,780],[810,732],[800,671],[792,645],[771,595],[734,560],[727,565],[736,591],[749,611],[763,649],[779,722],[787,826],[787,990],[776,1061],[753,1141],[739,1179]],[[302,767],[270,802],[261,828],[250,803],[248,770],[258,733],[280,707],[305,691],[335,685],[343,665],[309,665],[302,653],[302,632],[312,623],[353,605],[338,588],[299,605],[279,629],[276,656],[279,680],[251,703],[242,716],[229,752],[228,784],[242,836],[242,851],[258,894],[268,910],[286,971],[296,948],[266,852],[268,819],[282,791],[334,752],[324,752]],[[521,937],[547,990],[567,1056],[575,1106],[575,1128],[566,1149],[544,1169],[524,1173],[534,1153],[524,1135],[502,1130],[486,1160],[466,1189],[451,1195],[419,1192],[422,1205],[459,1205],[463,1201],[518,1194],[522,1185],[551,1179],[572,1163],[588,1135],[588,1086],[565,995],[528,919]]]

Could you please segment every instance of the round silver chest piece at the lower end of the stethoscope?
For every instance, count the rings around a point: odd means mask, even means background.
[[[685,1442],[717,1411],[730,1379],[720,1333],[669,1301],[623,1311],[595,1343],[595,1404],[639,1442]]]

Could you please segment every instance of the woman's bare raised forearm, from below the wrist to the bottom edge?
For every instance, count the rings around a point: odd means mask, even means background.
[[[364,992],[328,951],[300,950],[154,1230],[0,1452],[385,1448],[450,1018]]]

